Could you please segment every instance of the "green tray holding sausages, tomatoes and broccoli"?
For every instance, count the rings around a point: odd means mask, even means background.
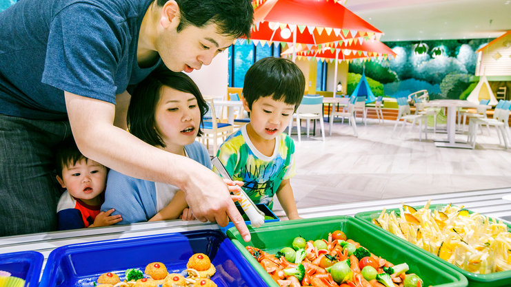
[[[445,270],[443,265],[434,259],[425,256],[415,248],[403,244],[394,237],[381,231],[375,231],[368,224],[349,216],[321,217],[308,220],[290,220],[285,222],[272,222],[259,228],[249,227],[252,240],[244,242],[236,228],[227,231],[228,237],[239,248],[241,254],[263,277],[269,286],[278,287],[272,277],[246,250],[246,246],[254,246],[268,253],[275,254],[283,247],[292,246],[294,237],[301,236],[305,240],[328,240],[328,233],[336,230],[343,231],[348,239],[359,242],[368,248],[374,255],[383,257],[392,264],[406,262],[410,266],[408,273],[415,273],[423,279],[424,286],[463,287],[468,281],[461,273],[454,270]]]

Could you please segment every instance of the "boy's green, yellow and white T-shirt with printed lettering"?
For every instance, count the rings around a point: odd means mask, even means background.
[[[272,156],[265,156],[252,145],[245,125],[223,142],[217,156],[233,180],[244,182],[243,189],[250,199],[270,209],[282,180],[296,174],[294,142],[287,134],[279,134]]]

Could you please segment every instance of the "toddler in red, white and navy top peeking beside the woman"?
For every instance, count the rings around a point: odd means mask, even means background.
[[[57,149],[57,180],[64,189],[57,205],[59,230],[108,226],[120,222],[114,209],[101,212],[105,201],[107,170],[103,164],[83,156],[73,138]]]

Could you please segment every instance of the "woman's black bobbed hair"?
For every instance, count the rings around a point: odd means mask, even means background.
[[[208,104],[192,78],[181,72],[172,72],[167,68],[154,70],[134,89],[126,118],[131,134],[154,147],[166,147],[165,142],[154,129],[156,127],[154,111],[161,99],[160,92],[163,86],[192,94],[197,98],[197,106],[201,111],[201,125],[202,118],[208,111]],[[195,128],[199,130],[197,136],[201,136],[203,134],[201,128]]]

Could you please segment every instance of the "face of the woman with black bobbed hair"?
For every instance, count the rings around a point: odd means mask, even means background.
[[[163,86],[161,98],[154,113],[157,133],[167,145],[166,151],[183,153],[197,137],[201,111],[193,94]]]

